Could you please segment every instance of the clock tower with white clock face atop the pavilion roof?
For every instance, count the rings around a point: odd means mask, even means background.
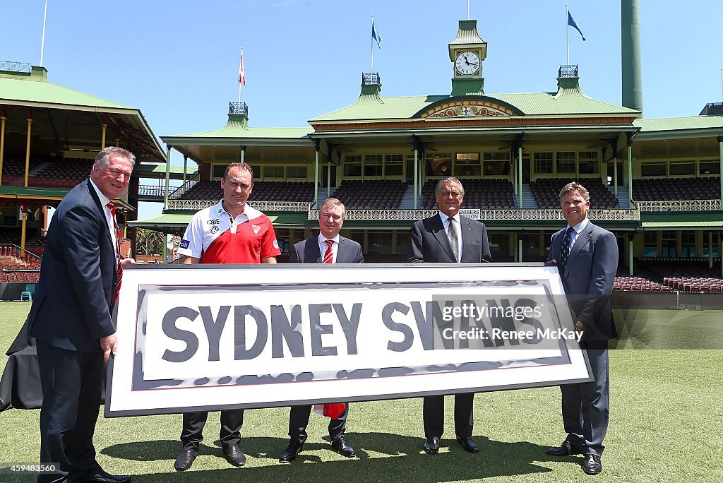
[[[477,33],[476,20],[460,20],[457,36],[449,44],[454,70],[452,95],[484,95],[482,61],[487,57],[487,42]]]

